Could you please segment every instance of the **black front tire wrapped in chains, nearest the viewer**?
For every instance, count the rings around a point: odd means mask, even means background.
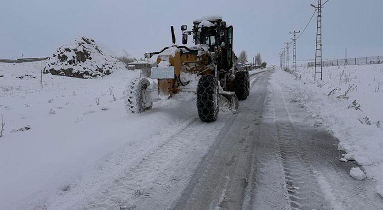
[[[203,122],[213,122],[219,112],[218,81],[213,75],[203,75],[197,86],[198,116]]]

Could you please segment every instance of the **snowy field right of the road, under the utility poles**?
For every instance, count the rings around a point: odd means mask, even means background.
[[[338,138],[340,161],[356,161],[383,195],[383,65],[324,67],[323,81],[314,81],[313,71],[277,71],[272,80],[289,87],[293,100]],[[358,172],[350,174],[363,178]]]

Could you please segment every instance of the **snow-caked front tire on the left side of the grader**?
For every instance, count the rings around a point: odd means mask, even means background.
[[[134,78],[128,81],[124,91],[125,108],[128,113],[141,113],[152,108],[149,86],[150,82],[146,78]]]

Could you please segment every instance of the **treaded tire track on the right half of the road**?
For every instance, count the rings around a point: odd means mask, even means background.
[[[286,103],[273,86],[275,121],[287,199],[293,210],[331,209],[316,181],[302,142],[291,122]]]

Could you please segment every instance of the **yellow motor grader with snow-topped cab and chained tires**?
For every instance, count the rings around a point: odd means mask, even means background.
[[[200,75],[196,90],[199,118],[204,122],[217,119],[219,106],[226,105],[232,112],[238,109],[238,100],[249,96],[249,73],[238,71],[233,52],[233,26],[226,26],[222,17],[204,17],[193,21],[191,31],[181,26],[183,46],[176,45],[174,27],[171,26],[173,45],[159,52],[145,53],[149,59],[158,55],[157,66],[151,68],[151,78],[157,79],[161,99],[168,99],[182,91],[188,81],[180,75]],[[192,36],[193,46],[188,44]],[[135,78],[124,91],[128,112],[140,113],[152,107],[150,82]]]

